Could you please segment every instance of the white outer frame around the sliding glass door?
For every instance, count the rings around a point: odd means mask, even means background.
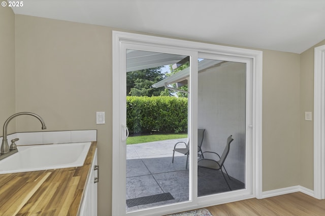
[[[202,52],[202,53],[214,53],[224,56],[237,56],[248,58],[252,62],[253,71],[253,107],[252,107],[252,124],[250,125],[252,129],[252,194],[245,196],[234,196],[225,200],[219,200],[217,202],[189,202],[171,204],[162,213],[171,213],[176,211],[183,211],[190,208],[199,208],[209,205],[215,205],[225,202],[232,202],[242,199],[248,199],[252,197],[262,198],[262,62],[263,62],[263,52],[242,48],[226,47],[219,45],[212,45],[206,43],[190,42],[183,40],[175,40],[169,38],[153,37],[143,34],[134,34],[127,32],[113,31],[113,167],[112,167],[112,215],[149,215],[156,213],[156,207],[151,209],[146,209],[137,214],[137,212],[125,213],[125,189],[120,190],[119,185],[125,186],[125,178],[122,179],[121,176],[125,176],[125,158],[120,158],[120,153],[125,150],[119,145],[121,139],[125,137],[125,126],[121,126],[121,111],[120,104],[125,103],[125,90],[120,89],[120,71],[126,71],[125,69],[125,56],[120,52],[125,44],[138,44],[144,46],[152,47],[162,47],[170,49],[179,49],[185,51]],[[121,60],[124,59],[124,60]],[[123,73],[125,74],[125,73]],[[126,75],[125,75],[126,76]],[[192,76],[196,76],[192,74]],[[195,97],[194,97],[195,98]],[[193,103],[195,101],[192,101]],[[195,103],[194,103],[195,104]],[[193,112],[196,112],[195,106]],[[196,124],[196,118],[192,118],[194,125]],[[194,136],[195,132],[193,132]],[[195,137],[191,137],[192,140],[197,140]],[[191,157],[191,163],[194,164],[195,157]],[[124,172],[124,173],[123,173]],[[192,183],[195,184],[195,183]],[[194,191],[195,193],[195,191]],[[194,194],[195,195],[195,194]],[[194,200],[195,201],[195,200]],[[167,209],[167,210],[166,210]]]

